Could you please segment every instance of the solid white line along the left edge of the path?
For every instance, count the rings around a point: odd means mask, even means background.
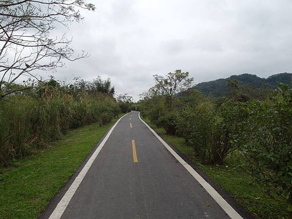
[[[128,114],[128,113],[127,113]],[[120,120],[126,116],[127,114],[123,115],[111,128],[106,137],[103,139],[103,141],[99,144],[99,146],[95,149],[85,166],[82,168],[78,176],[75,178],[74,182],[71,184],[70,188],[67,190],[61,201],[57,204],[55,207],[55,210],[49,217],[49,219],[59,219],[61,218],[62,214],[64,213],[67,205],[69,204],[70,200],[72,199],[75,191],[77,190],[78,186],[82,182],[83,178],[85,177],[86,173],[88,172],[89,168],[91,167],[93,161],[101,151],[102,147],[105,145],[107,140],[110,137],[111,132],[116,127],[116,125],[120,122]]]

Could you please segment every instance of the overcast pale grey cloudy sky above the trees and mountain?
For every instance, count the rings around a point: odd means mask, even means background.
[[[112,80],[117,93],[138,94],[153,74],[188,71],[195,83],[252,73],[292,72],[291,0],[88,0],[95,12],[70,30],[76,51],[57,79]],[[51,74],[51,73],[49,73]]]

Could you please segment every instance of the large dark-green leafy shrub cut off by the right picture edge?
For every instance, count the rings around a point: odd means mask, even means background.
[[[257,182],[281,187],[292,211],[292,89],[281,84],[273,100],[247,107],[250,117],[239,141],[248,170]]]

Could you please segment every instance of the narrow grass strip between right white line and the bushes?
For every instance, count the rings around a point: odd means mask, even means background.
[[[253,183],[252,177],[237,167],[234,159],[227,158],[224,165],[201,164],[194,156],[194,149],[184,144],[184,139],[166,134],[143,118],[155,131],[175,146],[183,155],[201,168],[215,183],[234,197],[245,209],[259,219],[289,219],[288,204],[281,198],[271,197],[262,187]]]

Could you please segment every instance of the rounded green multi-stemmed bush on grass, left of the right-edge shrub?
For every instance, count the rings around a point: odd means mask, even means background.
[[[185,108],[176,118],[176,134],[195,148],[202,162],[222,164],[224,158],[237,148],[235,137],[241,134],[237,122],[244,114],[240,104],[225,101],[216,107],[205,100],[194,108]]]

